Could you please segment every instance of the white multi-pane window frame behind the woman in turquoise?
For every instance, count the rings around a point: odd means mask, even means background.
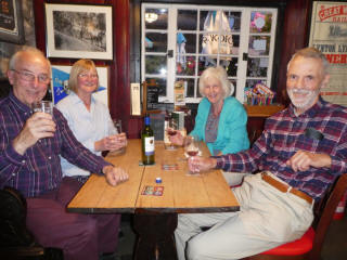
[[[163,4],[163,3],[142,3],[141,5],[141,81],[144,81],[146,77],[151,77],[153,75],[145,75],[145,54],[151,55],[163,55],[164,53],[157,52],[145,52],[145,34],[146,32],[163,32],[162,29],[146,29],[145,22],[144,22],[144,13],[146,9],[167,9],[168,10],[168,28],[167,28],[167,50],[174,51],[174,56],[171,58],[167,58],[167,95],[159,96],[160,103],[174,103],[174,83],[176,79],[176,42],[177,42],[177,32],[179,32],[176,28],[177,25],[177,11],[178,10],[196,10],[197,11],[197,30],[184,30],[184,34],[196,34],[197,39],[200,35],[200,11],[231,11],[231,12],[241,12],[241,29],[240,32],[232,32],[232,35],[240,35],[240,49],[239,55],[230,55],[231,57],[237,57],[237,74],[236,77],[230,77],[230,79],[236,80],[235,98],[240,102],[244,102],[244,88],[247,79],[259,79],[267,82],[267,86],[271,88],[271,78],[272,78],[272,67],[273,67],[273,53],[274,53],[274,40],[275,40],[275,27],[278,21],[278,9],[275,8],[252,8],[252,6],[221,6],[221,5],[196,5],[196,4]],[[270,50],[269,50],[269,65],[268,65],[268,73],[267,77],[246,77],[247,72],[247,61],[243,61],[243,53],[248,53],[248,40],[250,36],[259,35],[259,34],[252,34],[249,32],[249,23],[250,23],[250,13],[254,11],[259,12],[272,12],[272,23],[271,23],[271,32],[265,34],[261,32],[261,36],[270,36]],[[198,40],[196,40],[196,53],[198,53]],[[194,55],[194,54],[192,54]],[[219,62],[219,54],[218,62]],[[252,56],[252,57],[261,57],[261,56]],[[169,73],[170,72],[170,73]],[[195,66],[195,72],[197,72],[197,66]],[[198,78],[198,76],[179,76],[184,78]],[[160,77],[160,75],[155,75],[156,77]],[[197,80],[195,80],[194,89],[198,88]],[[201,98],[185,98],[185,103],[198,103]]]

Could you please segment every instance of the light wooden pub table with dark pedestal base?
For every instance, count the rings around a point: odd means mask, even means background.
[[[208,148],[202,145],[203,156]],[[239,204],[220,170],[202,176],[188,176],[183,148],[167,151],[155,144],[154,166],[140,166],[141,141],[129,140],[123,155],[108,155],[106,160],[129,173],[129,181],[115,187],[104,177],[92,174],[67,206],[79,213],[134,213],[138,234],[134,259],[177,259],[174,231],[177,213],[237,211]],[[178,170],[163,170],[162,164],[176,162]],[[163,182],[155,183],[160,177]],[[164,186],[163,196],[142,195],[145,186]]]

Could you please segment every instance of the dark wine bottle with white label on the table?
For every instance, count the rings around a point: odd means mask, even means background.
[[[154,134],[150,123],[150,116],[145,115],[144,129],[141,133],[143,165],[154,165]]]

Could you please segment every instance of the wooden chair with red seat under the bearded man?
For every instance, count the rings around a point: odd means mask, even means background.
[[[257,256],[244,258],[244,260],[321,260],[321,249],[324,243],[330,223],[333,220],[338,202],[347,190],[347,173],[339,177],[332,192],[327,193],[325,199],[314,210],[312,226],[303,235],[301,238],[281,245]],[[319,213],[321,212],[321,213]]]

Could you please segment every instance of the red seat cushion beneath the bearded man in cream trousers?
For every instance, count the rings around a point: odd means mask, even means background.
[[[308,231],[301,236],[291,243],[272,248],[268,251],[261,252],[260,255],[273,255],[273,256],[298,256],[306,253],[312,249],[314,238],[314,230],[309,227]]]

